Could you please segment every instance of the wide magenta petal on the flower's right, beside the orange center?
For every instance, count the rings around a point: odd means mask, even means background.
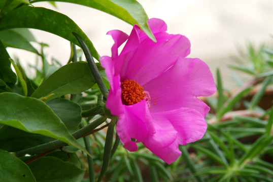
[[[144,89],[151,96],[151,112],[189,107],[205,116],[209,107],[195,97],[212,95],[216,86],[206,63],[197,58],[179,58],[174,66],[145,84]]]

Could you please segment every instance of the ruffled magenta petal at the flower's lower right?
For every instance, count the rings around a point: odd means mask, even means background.
[[[154,123],[162,127],[160,130],[156,130],[155,135],[149,135],[143,141],[143,144],[168,164],[177,160],[181,155],[178,149],[179,145],[186,145],[201,139],[207,129],[207,123],[203,116],[194,109],[180,108],[167,112],[152,113],[152,118]],[[166,128],[167,133],[171,133],[170,128],[173,128],[173,132],[176,133],[174,142],[169,142],[172,135],[167,138],[157,134],[157,132],[162,133],[164,128]],[[161,143],[168,145],[162,148],[162,144],[158,144],[159,140]]]

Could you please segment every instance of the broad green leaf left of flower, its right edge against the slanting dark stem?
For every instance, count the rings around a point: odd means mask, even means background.
[[[95,84],[94,77],[86,62],[65,65],[50,75],[32,94],[33,98],[54,96],[49,100],[65,94],[79,94]]]

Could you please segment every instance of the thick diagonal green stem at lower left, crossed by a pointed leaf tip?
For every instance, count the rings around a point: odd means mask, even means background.
[[[84,136],[85,134],[87,134],[88,132],[90,132],[91,130],[95,129],[97,126],[99,126],[100,124],[102,124],[103,122],[105,122],[105,120],[107,119],[106,116],[100,117],[98,119],[96,119],[95,121],[91,122],[90,124],[86,125],[85,127],[79,129],[78,131],[72,133],[72,135],[74,136],[75,139],[79,139],[82,136]],[[52,142],[48,142],[46,144],[42,144],[39,146],[35,146],[35,147],[31,147],[22,151],[17,152],[18,155],[21,154],[33,154],[33,153],[41,153],[44,151],[49,151],[52,149],[57,149],[60,148],[62,146],[67,145],[66,143],[59,141],[59,140],[55,140]]]

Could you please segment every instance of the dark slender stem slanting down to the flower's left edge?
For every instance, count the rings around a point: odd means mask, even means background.
[[[86,60],[89,64],[89,67],[91,69],[91,72],[96,80],[96,83],[101,91],[101,94],[104,95],[105,98],[107,98],[108,96],[108,89],[106,88],[105,84],[104,84],[104,81],[103,81],[103,78],[101,78],[99,72],[98,72],[98,69],[97,69],[97,66],[94,62],[94,59],[86,45],[86,43],[83,41],[83,39],[80,37],[80,35],[78,35],[77,33],[75,32],[72,32],[74,34],[74,36],[77,38],[77,40],[79,41],[82,49],[83,49],[83,53],[86,57]]]

